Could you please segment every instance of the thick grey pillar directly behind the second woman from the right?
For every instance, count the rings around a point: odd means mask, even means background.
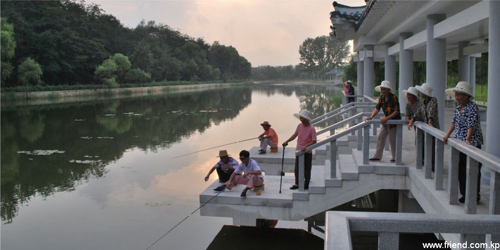
[[[444,93],[444,89],[446,89],[446,39],[434,38],[434,25],[444,19],[446,19],[445,14],[427,15],[427,47],[425,55],[425,81],[432,86],[432,95],[437,98],[437,117],[439,118],[441,130],[449,127],[449,122],[444,120],[444,99],[446,98],[446,94]]]

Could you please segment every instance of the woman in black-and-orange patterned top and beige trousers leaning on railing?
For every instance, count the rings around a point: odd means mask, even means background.
[[[371,113],[371,115],[365,120],[367,121],[373,119],[380,109],[382,109],[384,116],[380,119],[382,122],[382,128],[380,129],[380,133],[378,133],[378,137],[376,139],[375,154],[373,157],[369,158],[369,160],[380,160],[382,158],[383,147],[385,146],[385,140],[388,135],[390,153],[392,155],[390,162],[394,162],[396,153],[396,126],[387,125],[385,122],[389,119],[401,119],[401,114],[399,112],[399,100],[397,95],[392,93],[392,88],[390,87],[390,82],[388,80],[383,80],[380,85],[375,87],[375,90],[380,92],[381,95],[378,98],[375,109],[373,109],[373,113]]]

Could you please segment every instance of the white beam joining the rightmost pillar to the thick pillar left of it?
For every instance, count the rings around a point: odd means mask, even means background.
[[[461,32],[467,26],[488,18],[489,1],[480,1],[471,7],[434,25],[434,38],[446,38]]]

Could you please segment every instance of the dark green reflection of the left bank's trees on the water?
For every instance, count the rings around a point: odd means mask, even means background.
[[[103,176],[105,165],[129,148],[169,147],[212,123],[234,118],[250,102],[251,89],[239,87],[2,110],[1,219],[11,222],[18,206],[33,195],[74,190],[83,181]],[[65,153],[17,153],[36,149]],[[69,162],[72,159],[102,161],[76,164]]]

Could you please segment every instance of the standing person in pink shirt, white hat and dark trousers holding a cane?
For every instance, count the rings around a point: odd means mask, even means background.
[[[305,151],[305,148],[316,143],[316,129],[311,125],[310,112],[307,109],[302,109],[300,112],[293,114],[295,118],[300,120],[295,132],[283,142],[283,147],[288,145],[289,141],[294,140],[297,136],[297,146],[295,150]],[[311,179],[311,168],[312,168],[312,150],[304,153],[304,189],[309,189],[309,181]],[[298,188],[298,156],[295,156],[295,184],[290,186],[290,189]]]

